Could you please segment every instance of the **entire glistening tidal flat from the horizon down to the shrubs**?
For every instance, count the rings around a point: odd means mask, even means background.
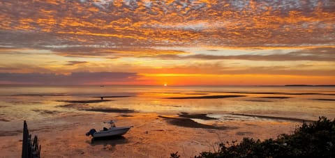
[[[335,117],[334,88],[243,89],[7,86],[0,92],[1,157],[20,157],[23,120],[38,135],[42,157],[193,157],[219,143],[275,139],[303,121]],[[106,120],[133,127],[119,138],[85,136]]]

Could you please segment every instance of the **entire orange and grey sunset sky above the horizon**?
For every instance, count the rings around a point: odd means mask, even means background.
[[[1,0],[0,84],[335,84],[335,1]]]

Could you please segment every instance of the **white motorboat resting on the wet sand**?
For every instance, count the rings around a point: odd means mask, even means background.
[[[128,132],[129,129],[133,126],[126,126],[126,127],[116,127],[115,126],[115,121],[110,120],[108,122],[104,123],[109,123],[110,128],[107,129],[106,127],[103,127],[103,130],[96,132],[96,129],[91,129],[89,132],[87,132],[87,136],[91,135],[93,138],[101,138],[105,136],[122,136]]]

